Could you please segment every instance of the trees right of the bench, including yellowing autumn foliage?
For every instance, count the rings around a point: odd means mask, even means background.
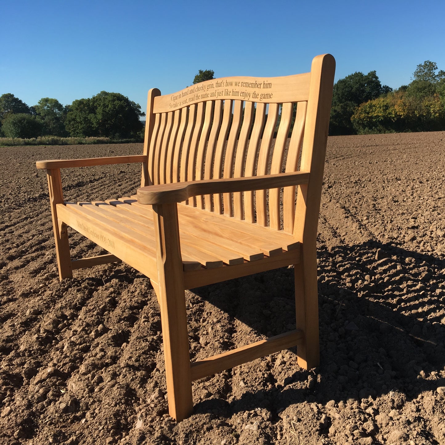
[[[445,71],[425,61],[409,85],[381,85],[376,71],[353,73],[334,85],[330,135],[445,129]]]

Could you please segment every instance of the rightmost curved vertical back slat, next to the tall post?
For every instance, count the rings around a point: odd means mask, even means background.
[[[289,151],[287,152],[286,173],[297,171],[298,159],[303,142],[304,122],[306,121],[307,102],[298,102],[294,128]],[[295,186],[284,187],[283,192],[283,230],[292,233],[295,218]]]

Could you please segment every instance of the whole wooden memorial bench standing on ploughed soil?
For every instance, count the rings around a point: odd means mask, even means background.
[[[295,345],[299,366],[319,364],[316,235],[334,71],[327,54],[310,73],[151,89],[140,156],[37,162],[48,174],[60,279],[117,260],[150,277],[178,421],[193,412],[193,380]],[[60,169],[129,162],[142,163],[137,195],[64,202]],[[71,260],[67,226],[109,255]],[[294,331],[190,363],[185,289],[289,265]]]

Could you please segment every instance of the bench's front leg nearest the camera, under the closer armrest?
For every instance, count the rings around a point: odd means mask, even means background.
[[[182,421],[193,399],[177,204],[156,204],[153,216],[169,413]]]

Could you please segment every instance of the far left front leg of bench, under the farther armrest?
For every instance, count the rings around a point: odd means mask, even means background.
[[[49,202],[53,217],[54,240],[56,242],[57,266],[59,279],[73,278],[71,257],[69,255],[68,230],[65,223],[57,218],[57,204],[63,204],[62,180],[60,169],[46,170],[48,177]]]

